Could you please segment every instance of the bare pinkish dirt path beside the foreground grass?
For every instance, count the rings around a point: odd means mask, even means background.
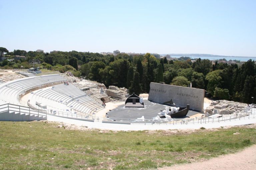
[[[158,170],[255,170],[256,145],[235,153],[212,158],[204,162],[159,168]]]

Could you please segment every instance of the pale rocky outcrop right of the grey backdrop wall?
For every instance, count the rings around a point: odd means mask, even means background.
[[[219,114],[232,114],[234,112],[239,113],[244,111],[247,107],[247,104],[227,101],[227,100],[216,100],[211,102],[210,106],[205,109],[205,112],[208,112],[209,115],[212,115],[213,110],[218,110]]]

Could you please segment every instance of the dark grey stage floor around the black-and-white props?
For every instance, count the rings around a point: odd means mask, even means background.
[[[143,100],[145,108],[124,108],[124,104],[118,106],[112,111],[107,112],[109,118],[124,118],[124,119],[137,119],[144,116],[145,119],[152,119],[158,115],[162,110],[165,110],[166,105]],[[170,107],[170,106],[169,106]],[[186,106],[181,106],[186,107]],[[187,116],[198,114],[200,111],[189,110]]]

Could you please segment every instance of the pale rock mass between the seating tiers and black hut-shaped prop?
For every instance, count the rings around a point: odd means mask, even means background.
[[[109,97],[116,99],[124,99],[126,94],[128,93],[128,89],[126,88],[118,88],[116,86],[109,86],[108,89],[105,90],[106,94]]]

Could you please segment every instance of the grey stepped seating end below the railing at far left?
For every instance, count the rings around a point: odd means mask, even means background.
[[[9,111],[0,113],[0,121],[41,121],[46,119],[46,116],[27,113]]]

